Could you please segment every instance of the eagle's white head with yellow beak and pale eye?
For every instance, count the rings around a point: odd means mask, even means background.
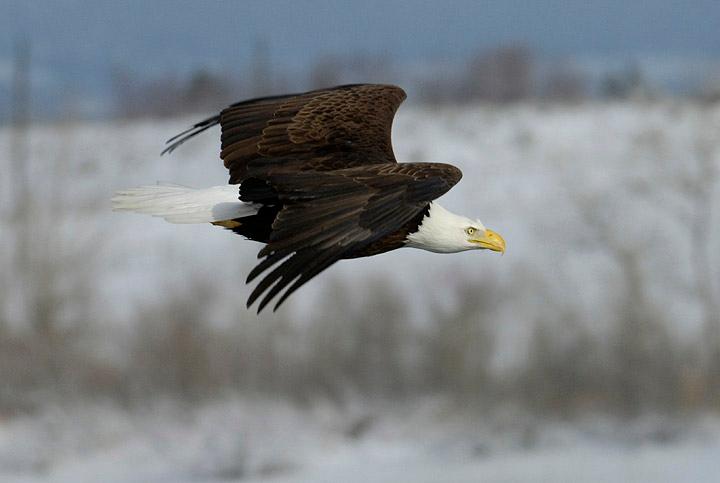
[[[430,210],[415,233],[407,237],[406,246],[437,253],[465,250],[505,252],[505,240],[485,228],[480,220],[456,215],[439,204],[430,203]]]

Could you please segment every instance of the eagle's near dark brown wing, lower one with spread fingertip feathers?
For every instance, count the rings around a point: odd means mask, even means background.
[[[264,257],[248,282],[280,261],[255,287],[248,306],[265,293],[258,312],[283,289],[295,290],[342,258],[400,229],[462,173],[440,163],[362,166],[330,172],[277,173],[268,183],[284,207],[273,223]],[[252,200],[248,200],[252,201]]]

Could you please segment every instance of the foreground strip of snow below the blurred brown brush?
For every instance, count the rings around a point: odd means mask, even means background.
[[[3,482],[714,482],[720,420],[468,420],[438,401],[362,411],[227,399],[47,410],[0,426]],[[457,409],[457,408],[455,408]],[[487,420],[486,420],[487,419]],[[362,428],[358,431],[358,428]],[[658,429],[660,428],[660,429]]]

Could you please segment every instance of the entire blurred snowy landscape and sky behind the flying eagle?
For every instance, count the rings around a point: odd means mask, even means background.
[[[716,1],[0,0],[2,481],[718,481]],[[504,257],[343,261],[110,212],[222,184],[253,96],[406,89]]]

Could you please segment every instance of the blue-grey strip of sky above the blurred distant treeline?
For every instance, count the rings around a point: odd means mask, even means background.
[[[694,60],[718,58],[719,26],[717,0],[0,0],[0,108],[18,37],[46,94],[101,95],[118,67],[241,71],[259,39],[288,70],[358,52],[458,61],[512,42],[550,58]]]

